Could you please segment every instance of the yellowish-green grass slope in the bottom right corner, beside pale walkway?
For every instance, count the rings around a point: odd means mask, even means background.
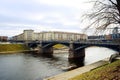
[[[70,80],[120,80],[120,60],[78,75]]]

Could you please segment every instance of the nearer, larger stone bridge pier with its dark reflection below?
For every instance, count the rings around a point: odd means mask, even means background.
[[[70,65],[76,65],[77,67],[84,65],[85,49],[75,50],[74,44],[70,43],[68,60]]]

